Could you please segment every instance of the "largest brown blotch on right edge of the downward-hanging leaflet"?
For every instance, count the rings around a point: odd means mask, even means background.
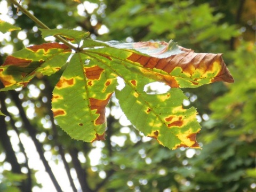
[[[96,125],[101,125],[105,123],[106,118],[105,118],[105,111],[106,111],[106,106],[108,104],[108,101],[111,97],[112,93],[110,93],[107,97],[106,100],[100,100],[100,99],[94,99],[90,98],[90,104],[91,104],[91,109],[97,109],[96,113],[100,114],[100,116],[95,120]]]

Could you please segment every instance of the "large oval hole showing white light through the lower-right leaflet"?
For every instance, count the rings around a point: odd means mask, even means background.
[[[144,86],[147,94],[163,94],[170,91],[171,87],[161,82],[153,82]]]

